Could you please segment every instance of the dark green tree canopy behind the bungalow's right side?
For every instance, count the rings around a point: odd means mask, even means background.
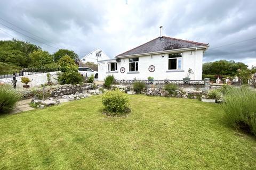
[[[220,60],[203,64],[203,74],[230,75],[237,74],[237,70],[246,70],[247,65],[242,62]]]

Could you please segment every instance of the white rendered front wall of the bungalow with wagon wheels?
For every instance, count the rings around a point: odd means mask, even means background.
[[[154,72],[149,72],[148,67],[150,65],[155,66]],[[172,72],[166,72],[168,71],[168,54],[140,56],[139,73],[129,72],[129,58],[121,58],[121,62],[117,63],[118,69],[116,72],[107,72],[108,64],[99,63],[99,81],[103,81],[107,75],[111,74],[118,80],[133,80],[134,78],[137,80],[147,80],[148,77],[154,77],[155,80],[182,80],[182,78],[186,77],[188,69],[194,71],[194,74],[191,74],[190,76],[191,80],[202,80],[202,65],[203,50],[197,50],[196,53],[195,50],[183,52],[182,69],[180,71]],[[120,72],[121,67],[125,68],[124,73]]]

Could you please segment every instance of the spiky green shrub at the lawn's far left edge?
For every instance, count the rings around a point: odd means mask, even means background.
[[[12,89],[11,86],[0,86],[0,113],[7,113],[11,111],[17,102],[21,99],[21,96]]]

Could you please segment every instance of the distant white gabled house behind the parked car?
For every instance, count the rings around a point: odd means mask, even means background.
[[[110,60],[110,57],[104,53],[101,49],[94,49],[91,53],[87,54],[81,59],[82,63],[91,62],[97,64],[100,60]]]

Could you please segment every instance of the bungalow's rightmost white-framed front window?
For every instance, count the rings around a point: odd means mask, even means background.
[[[168,70],[182,69],[182,53],[169,54]]]

